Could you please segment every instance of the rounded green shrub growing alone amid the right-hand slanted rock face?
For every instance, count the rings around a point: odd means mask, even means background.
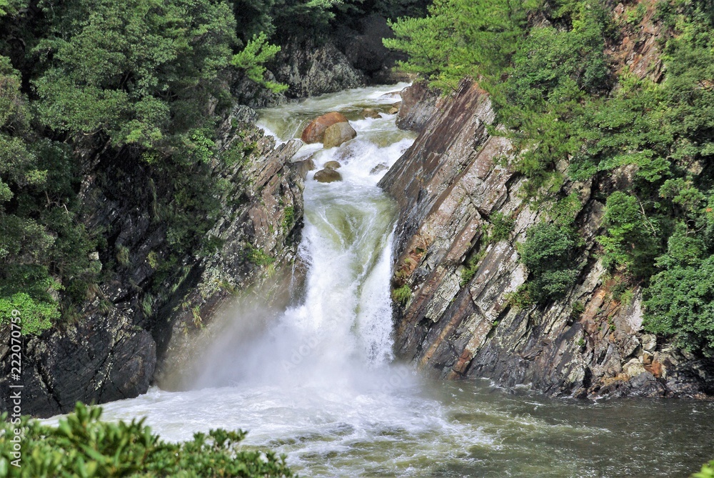
[[[578,245],[577,234],[565,226],[540,222],[529,229],[526,242],[518,248],[530,272],[521,294],[527,292],[533,303],[563,297],[580,272],[575,262]]]

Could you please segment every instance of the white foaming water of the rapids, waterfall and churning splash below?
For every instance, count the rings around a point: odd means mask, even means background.
[[[454,442],[434,442],[436,437],[488,442],[477,429],[453,429],[438,402],[419,397],[411,367],[391,364],[396,207],[376,184],[414,135],[396,129],[393,114],[358,114],[366,106],[388,110],[399,100],[388,93],[403,86],[353,90],[262,112],[259,124],[280,141],[299,136],[310,119],[328,111],[346,114],[358,134],[338,148],[303,146],[293,159],[311,157],[316,171],[327,161],[342,165],[343,181],[318,183],[315,171],[306,179],[300,247],[308,264],[306,297],[261,337],[248,343],[235,337],[239,353],[228,358],[221,347],[197,379],[206,388],[152,389],[105,405],[105,417],[146,416],[171,440],[211,427],[246,429],[246,444],[285,452],[288,462],[313,476],[412,468],[418,474],[423,460],[436,462],[453,452]],[[391,451],[371,462],[366,454],[375,447]]]

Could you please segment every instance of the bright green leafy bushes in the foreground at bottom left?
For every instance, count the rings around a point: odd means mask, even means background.
[[[215,429],[170,443],[144,419],[101,422],[101,408],[77,404],[56,427],[22,417],[0,425],[0,474],[8,477],[291,477],[285,457],[243,449],[242,431]],[[21,467],[11,464],[14,429],[21,429]]]

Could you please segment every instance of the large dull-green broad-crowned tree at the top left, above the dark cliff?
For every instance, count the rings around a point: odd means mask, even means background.
[[[34,86],[45,124],[162,151],[203,126],[236,40],[226,3],[75,0],[44,13],[53,28],[34,49],[46,66]]]

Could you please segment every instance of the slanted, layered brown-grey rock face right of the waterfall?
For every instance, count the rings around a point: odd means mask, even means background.
[[[525,179],[501,161],[511,155],[508,140],[486,131],[494,117],[488,96],[465,82],[448,99],[422,86],[403,97],[400,120],[422,132],[380,183],[401,210],[394,287],[411,290],[395,307],[398,357],[441,377],[486,377],[552,396],[714,393],[710,360],[642,331],[639,290],[629,304],[610,294],[614,281],[595,254],[595,236],[603,233],[603,197],[627,171],[563,185],[580,197],[586,265],[565,298],[520,309],[510,297],[528,271],[516,244],[543,214],[523,202]],[[497,211],[516,218],[511,236],[482,240]],[[467,272],[468,259],[475,272]]]

